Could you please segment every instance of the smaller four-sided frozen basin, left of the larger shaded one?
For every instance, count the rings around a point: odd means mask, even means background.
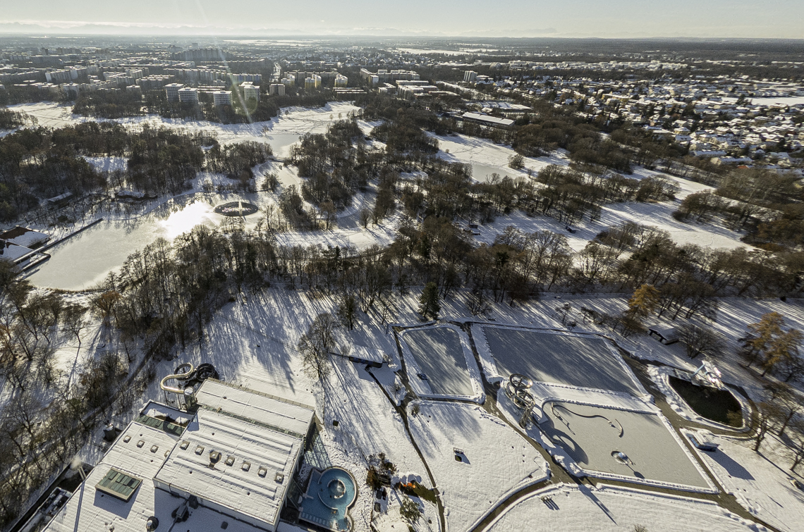
[[[483,402],[480,370],[466,334],[454,325],[400,333],[408,381],[420,397]]]

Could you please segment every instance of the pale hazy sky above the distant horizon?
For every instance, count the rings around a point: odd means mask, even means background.
[[[802,0],[0,0],[0,33],[804,39]]]

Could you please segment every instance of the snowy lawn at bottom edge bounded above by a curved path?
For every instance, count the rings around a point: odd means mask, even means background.
[[[539,490],[507,509],[486,530],[623,532],[638,530],[636,526],[650,532],[757,530],[755,523],[711,501],[607,485],[560,485]]]

